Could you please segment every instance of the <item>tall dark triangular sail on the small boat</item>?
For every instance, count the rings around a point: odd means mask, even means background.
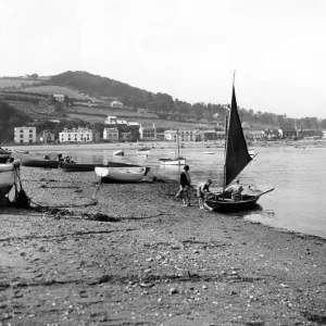
[[[225,186],[229,185],[251,161],[237,109],[235,86],[229,114],[225,155]]]

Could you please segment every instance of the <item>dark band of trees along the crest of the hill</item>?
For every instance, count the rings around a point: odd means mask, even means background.
[[[111,97],[116,98],[126,106],[136,109],[147,109],[149,112],[156,113],[160,117],[184,115],[196,120],[208,118],[224,121],[228,112],[226,105],[215,103],[193,103],[173,99],[167,93],[153,93],[143,89],[131,87],[127,84],[116,82],[99,75],[92,75],[87,72],[65,72],[51,77],[50,85],[66,86],[87,93],[91,97]],[[291,118],[286,114],[274,114],[268,112],[254,112],[239,108],[241,121],[255,124],[279,127],[284,124],[296,125],[298,128],[326,128],[326,120],[317,117]]]

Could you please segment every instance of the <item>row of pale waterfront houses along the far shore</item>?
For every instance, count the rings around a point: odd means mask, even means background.
[[[301,130],[303,133],[304,130]],[[305,130],[308,131],[308,130]],[[300,135],[300,133],[299,133]],[[301,138],[313,138],[311,133],[301,134],[308,135]],[[252,140],[268,140],[298,137],[298,133],[285,133],[283,129],[265,129],[265,130],[247,130],[244,137]],[[323,131],[319,137],[326,138],[326,131]],[[129,123],[126,121],[110,120],[109,124],[105,124],[103,131],[90,129],[87,127],[78,127],[67,129],[64,128],[59,133],[59,138],[54,139],[54,134],[49,130],[43,130],[37,135],[36,127],[16,127],[14,128],[14,142],[15,143],[32,143],[32,142],[93,142],[93,141],[108,141],[108,142],[121,142],[121,141],[212,141],[223,140],[225,138],[225,131],[216,131],[215,129],[167,129],[156,128],[155,125],[141,126],[136,122]],[[298,137],[300,138],[300,137]]]

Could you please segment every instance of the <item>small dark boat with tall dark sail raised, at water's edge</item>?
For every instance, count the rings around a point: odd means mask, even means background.
[[[242,195],[242,198],[239,201],[235,201],[230,198],[229,193],[224,191],[225,188],[241,173],[241,171],[251,162],[252,159],[253,158],[248,152],[247,142],[238,114],[234,80],[228,128],[226,123],[223,193],[216,195],[213,200],[206,200],[204,203],[206,209],[210,211],[240,211],[250,209],[256,203],[262,195],[274,190],[273,188],[255,196]]]

